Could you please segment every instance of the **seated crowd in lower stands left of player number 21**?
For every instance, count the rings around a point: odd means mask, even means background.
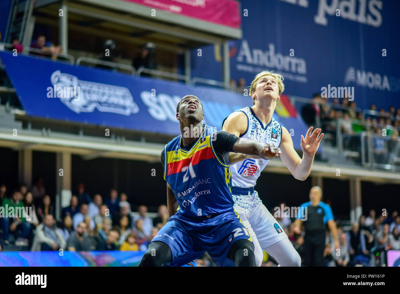
[[[100,194],[90,197],[82,183],[72,195],[70,205],[62,209],[60,222],[55,219],[54,205],[42,179],[31,191],[21,185],[8,193],[6,185],[2,184],[0,203],[4,209],[28,207],[25,215],[0,217],[0,248],[3,250],[14,245],[32,251],[146,251],[152,238],[168,221],[166,205],[160,205],[155,219],[148,217],[144,205],[138,207],[135,216],[125,193],[118,195],[118,191],[112,189],[107,197]]]

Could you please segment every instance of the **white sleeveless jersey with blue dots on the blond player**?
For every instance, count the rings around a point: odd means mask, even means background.
[[[245,107],[236,111],[242,111],[247,116],[247,129],[241,138],[246,138],[261,143],[268,143],[279,146],[282,138],[282,127],[278,121],[272,117],[271,121],[264,127],[264,124],[254,114],[251,107]],[[230,165],[232,173],[232,186],[240,188],[250,188],[256,185],[261,171],[268,164],[269,160],[248,158],[244,161]]]

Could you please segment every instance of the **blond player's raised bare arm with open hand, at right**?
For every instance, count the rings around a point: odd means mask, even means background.
[[[321,129],[315,129],[314,132],[311,133],[312,129],[313,127],[308,129],[306,137],[303,137],[303,135],[301,136],[300,146],[303,150],[303,157],[300,159],[293,148],[292,137],[288,130],[282,127],[282,140],[279,145],[282,150],[280,158],[286,167],[288,167],[293,177],[300,181],[304,181],[307,179],[308,175],[310,175],[314,155],[320,146],[322,137],[324,137],[324,133],[321,133]]]

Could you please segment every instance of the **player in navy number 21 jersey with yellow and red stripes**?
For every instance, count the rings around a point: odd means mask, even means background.
[[[182,135],[161,153],[170,219],[139,266],[182,266],[205,251],[218,266],[256,266],[252,238],[233,208],[229,154],[270,159],[280,151],[203,124],[194,95],[179,101],[176,119]]]

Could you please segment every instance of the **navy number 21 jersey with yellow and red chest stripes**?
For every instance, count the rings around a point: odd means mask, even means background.
[[[204,124],[190,150],[180,147],[182,135],[164,147],[164,179],[179,203],[178,214],[196,219],[234,212],[230,168],[220,161],[212,145],[216,131]]]

